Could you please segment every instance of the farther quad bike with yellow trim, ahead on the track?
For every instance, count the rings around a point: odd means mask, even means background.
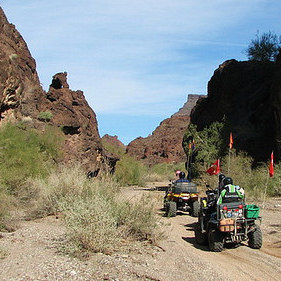
[[[164,197],[165,214],[168,217],[175,217],[177,211],[189,212],[192,216],[198,217],[199,201],[197,185],[192,182],[175,182],[170,185]]]

